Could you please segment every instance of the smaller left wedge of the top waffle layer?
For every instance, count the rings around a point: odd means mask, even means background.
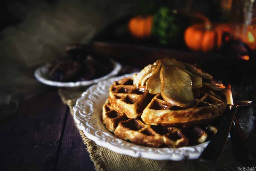
[[[125,113],[128,118],[137,118],[152,99],[145,87],[133,85],[132,77],[114,82],[109,90],[109,101],[113,109]]]

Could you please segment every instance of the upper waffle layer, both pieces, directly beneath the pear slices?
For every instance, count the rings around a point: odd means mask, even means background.
[[[109,90],[109,102],[116,112],[131,119],[141,115],[148,125],[177,127],[207,124],[226,109],[225,100],[212,90],[200,89],[194,96],[196,102],[192,107],[174,106],[164,101],[160,93],[151,95],[143,86],[136,88],[132,77],[114,82]]]

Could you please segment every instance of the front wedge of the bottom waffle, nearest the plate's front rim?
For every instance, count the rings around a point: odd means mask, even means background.
[[[123,140],[130,140],[134,144],[149,147],[187,146],[188,138],[178,128],[146,125],[139,119],[128,119],[120,122],[115,135]]]

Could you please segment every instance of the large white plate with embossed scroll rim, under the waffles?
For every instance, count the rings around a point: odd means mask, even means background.
[[[78,128],[96,144],[114,152],[133,157],[143,157],[155,160],[196,159],[200,156],[208,142],[181,148],[152,148],[135,145],[121,140],[109,132],[101,121],[102,106],[108,98],[109,87],[113,81],[132,76],[128,74],[109,78],[88,88],[74,106],[74,119]]]

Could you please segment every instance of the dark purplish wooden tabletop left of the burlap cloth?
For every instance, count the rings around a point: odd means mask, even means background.
[[[95,170],[56,89],[22,102],[0,121],[0,171]]]

